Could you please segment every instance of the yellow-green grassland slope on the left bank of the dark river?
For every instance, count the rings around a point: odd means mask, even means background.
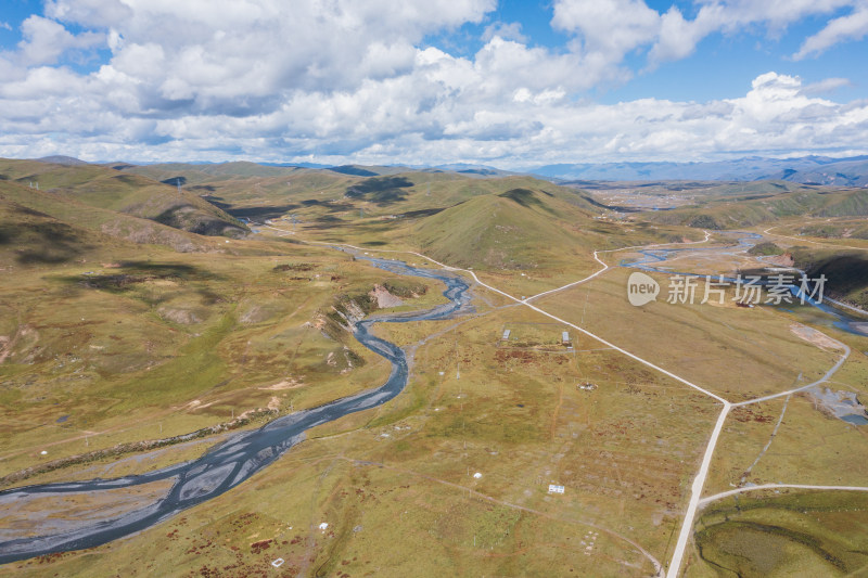
[[[25,218],[49,230],[47,217]],[[41,251],[39,235],[0,253],[2,475],[257,408],[321,404],[388,373],[340,327],[322,332],[340,299],[405,286],[347,255],[253,243],[215,258],[62,231],[75,258],[22,264],[22,252]],[[422,307],[443,298],[431,281],[414,287]]]

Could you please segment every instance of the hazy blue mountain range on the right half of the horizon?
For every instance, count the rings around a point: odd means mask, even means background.
[[[802,184],[868,185],[868,156],[831,158],[745,157],[710,163],[604,163],[547,165],[527,170],[549,179],[585,181],[756,181],[784,180]]]

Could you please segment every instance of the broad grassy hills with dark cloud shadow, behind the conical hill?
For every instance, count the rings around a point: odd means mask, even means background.
[[[330,169],[268,167],[253,163],[221,165],[116,165],[128,175],[144,176],[203,195],[238,218],[263,220],[297,214],[301,220],[433,211],[482,194],[514,188],[545,189],[590,204],[567,189],[532,177],[485,178],[477,172],[406,167],[343,166]]]

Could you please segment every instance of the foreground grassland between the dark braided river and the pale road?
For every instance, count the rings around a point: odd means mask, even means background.
[[[394,402],[320,426],[207,509],[15,570],[240,576],[280,556],[288,575],[648,575],[630,542],[665,558],[714,404],[660,376],[607,383],[642,374],[623,356],[493,346],[503,323],[538,321],[507,308],[435,322]],[[388,330],[398,343],[431,331]],[[576,387],[588,380],[600,388]],[[695,420],[680,419],[687,408]],[[566,493],[548,494],[550,483]]]

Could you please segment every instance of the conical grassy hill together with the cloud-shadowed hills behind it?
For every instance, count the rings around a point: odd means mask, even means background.
[[[682,227],[597,219],[605,208],[590,194],[529,176],[383,174],[354,166],[251,177],[216,168],[156,165],[125,172],[180,175],[184,187],[206,191],[204,198],[229,214],[280,221],[304,239],[422,251],[450,265],[492,270],[571,278],[595,266],[598,248],[701,237]]]

